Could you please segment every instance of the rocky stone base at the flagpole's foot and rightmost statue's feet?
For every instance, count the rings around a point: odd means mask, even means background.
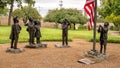
[[[90,50],[84,53],[86,57],[95,58],[95,62],[102,62],[106,60],[109,55],[108,54],[101,54],[97,50]]]

